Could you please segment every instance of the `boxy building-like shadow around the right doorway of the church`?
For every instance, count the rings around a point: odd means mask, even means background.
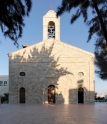
[[[94,91],[90,90],[90,82],[84,86],[84,79],[77,81],[77,88],[69,89],[69,103],[94,103]]]

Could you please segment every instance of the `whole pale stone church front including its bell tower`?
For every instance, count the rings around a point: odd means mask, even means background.
[[[43,17],[43,41],[8,54],[9,103],[94,103],[94,54],[60,41],[60,17]]]

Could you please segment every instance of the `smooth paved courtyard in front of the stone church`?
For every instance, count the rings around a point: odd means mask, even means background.
[[[107,102],[71,105],[2,104],[0,124],[107,124]]]

